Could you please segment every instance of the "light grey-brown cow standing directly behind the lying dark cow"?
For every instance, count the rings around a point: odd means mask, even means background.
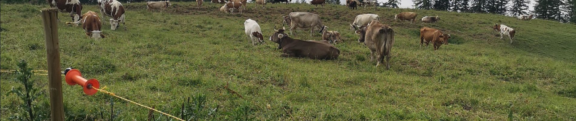
[[[294,36],[296,36],[296,33],[293,31],[295,28],[310,28],[310,37],[312,37],[314,28],[320,29],[319,33],[324,32],[324,29],[328,28],[322,24],[320,16],[313,13],[292,12],[284,16],[284,23],[290,25],[290,34]]]

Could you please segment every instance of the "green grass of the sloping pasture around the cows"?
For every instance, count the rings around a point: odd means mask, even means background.
[[[202,120],[233,120],[244,112],[256,120],[508,120],[510,110],[514,120],[576,118],[576,25],[494,14],[305,4],[268,4],[262,10],[249,3],[243,15],[232,15],[219,12],[221,5],[213,3],[200,10],[194,2],[172,4],[166,11],[149,12],[144,3],[125,3],[127,30],[123,25],[109,30],[105,22],[107,38],[97,41],[80,27],[65,26],[70,18],[60,13],[62,68],[77,68],[116,95],[173,115],[180,114],[185,98],[205,95],[205,108],[219,109]],[[0,36],[1,69],[16,69],[20,60],[34,69],[47,68],[43,7],[47,5],[2,5],[0,22],[6,31]],[[84,8],[98,11],[93,5]],[[283,58],[274,42],[254,47],[244,34],[244,20],[251,18],[267,38],[273,26],[282,26],[281,17],[293,11],[317,13],[329,30],[342,34],[338,60]],[[442,20],[392,21],[401,11]],[[348,30],[355,15],[365,13],[380,15],[382,23],[395,29],[390,70],[374,67],[369,49]],[[493,24],[516,29],[516,41],[499,40]],[[420,48],[423,26],[451,34],[450,44],[436,51]],[[307,30],[297,32],[294,38],[321,38],[310,37]],[[14,75],[1,75],[2,94],[21,86]],[[33,79],[47,92],[45,76]],[[226,91],[228,83],[251,102]],[[78,85],[65,84],[63,94],[70,120],[99,119],[99,111],[109,115],[111,97],[103,93],[86,96]],[[0,119],[6,120],[22,102],[14,95],[1,99]],[[145,108],[115,103],[121,110],[118,120],[147,118]]]

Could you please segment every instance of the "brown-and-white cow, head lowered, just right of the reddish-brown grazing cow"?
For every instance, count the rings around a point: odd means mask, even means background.
[[[124,30],[126,30],[126,20],[124,20],[124,6],[122,3],[116,0],[105,0],[102,3],[102,12],[104,15],[111,17],[110,29],[116,30],[120,26],[120,22],[124,24]],[[104,16],[102,17],[104,18]]]

